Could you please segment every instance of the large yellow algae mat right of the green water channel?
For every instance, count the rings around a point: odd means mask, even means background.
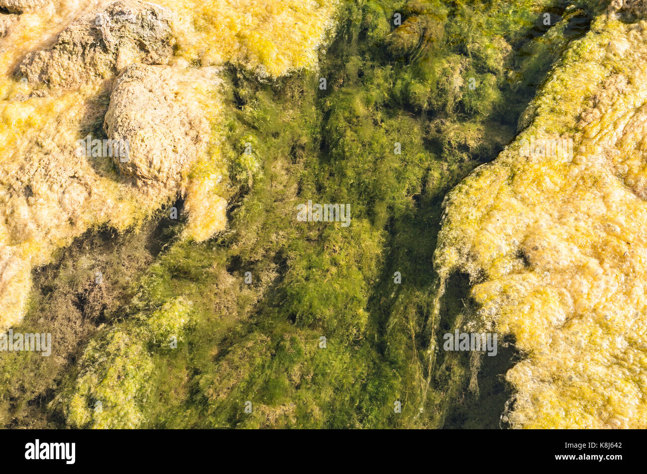
[[[525,129],[448,195],[435,268],[514,336],[512,427],[647,427],[647,21],[572,43]],[[573,140],[573,154],[531,140]]]

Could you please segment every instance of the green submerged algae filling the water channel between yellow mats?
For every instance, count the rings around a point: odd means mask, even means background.
[[[182,242],[181,222],[166,219],[161,253],[118,317],[25,396],[61,427],[494,424],[503,387],[479,402],[469,358],[433,350],[459,324],[467,285],[452,281],[437,299],[432,252],[444,195],[512,140],[569,43],[569,16],[536,34],[560,8],[347,2],[318,73],[270,84],[231,69],[228,230]],[[309,199],[351,203],[351,226],[296,222]],[[186,326],[169,316],[175,305]],[[488,370],[490,380],[505,369]],[[5,424],[23,423],[0,396]],[[461,412],[465,398],[485,413]]]

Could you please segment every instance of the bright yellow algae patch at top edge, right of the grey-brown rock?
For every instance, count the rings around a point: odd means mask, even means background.
[[[282,76],[317,63],[333,26],[336,0],[193,0],[157,2],[177,15],[180,54],[203,65],[235,63]]]

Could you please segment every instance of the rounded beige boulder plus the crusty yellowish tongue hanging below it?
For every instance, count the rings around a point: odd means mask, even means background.
[[[113,158],[123,175],[151,193],[186,193],[184,235],[197,241],[226,226],[226,200],[215,189],[225,179],[223,172],[206,169],[188,178],[192,166],[207,155],[212,137],[193,87],[209,75],[132,65],[116,81],[104,121],[108,137],[127,144],[127,156]],[[216,77],[208,79],[210,87],[219,83]]]

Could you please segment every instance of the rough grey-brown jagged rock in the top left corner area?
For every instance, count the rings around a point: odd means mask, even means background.
[[[52,47],[28,54],[19,69],[30,83],[69,89],[114,78],[131,63],[166,64],[174,45],[170,12],[121,0],[72,23]]]

